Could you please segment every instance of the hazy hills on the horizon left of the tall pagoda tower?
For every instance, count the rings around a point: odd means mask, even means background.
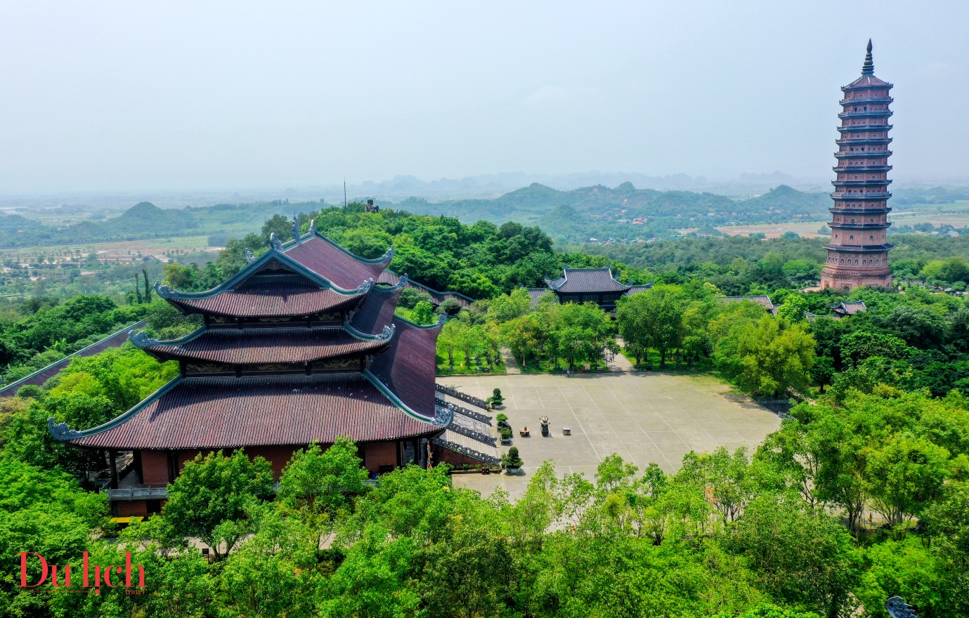
[[[494,199],[427,201],[411,198],[378,201],[384,207],[416,214],[447,215],[464,222],[519,221],[538,224],[559,240],[590,236],[669,237],[684,228],[751,225],[792,220],[822,220],[828,196],[780,185],[764,195],[733,200],[712,193],[637,189],[631,182],[615,188],[595,185],[560,191],[539,183]],[[257,232],[274,214],[292,216],[324,207],[321,201],[259,201],[211,206],[159,208],[142,201],[120,216],[66,227],[44,225],[20,215],[0,216],[0,248],[135,240],[180,235],[212,235],[221,242]],[[332,205],[332,204],[330,204]]]

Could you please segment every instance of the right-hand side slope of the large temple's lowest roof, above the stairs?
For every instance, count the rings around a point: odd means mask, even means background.
[[[375,356],[363,372],[397,393],[404,406],[422,417],[435,414],[437,336],[445,320],[441,316],[437,324],[420,326],[394,317],[390,348]]]

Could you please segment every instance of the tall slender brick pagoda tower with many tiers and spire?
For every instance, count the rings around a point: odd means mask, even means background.
[[[861,77],[841,88],[844,110],[836,141],[838,160],[832,183],[828,263],[821,287],[854,290],[859,286],[891,286],[887,233],[889,211],[889,117],[891,83],[875,77],[871,41]]]

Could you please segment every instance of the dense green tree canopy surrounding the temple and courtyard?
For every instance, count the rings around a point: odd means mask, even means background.
[[[622,352],[801,403],[754,451],[690,452],[672,474],[618,455],[588,477],[526,461],[532,479],[515,502],[453,487],[447,466],[403,468],[372,487],[343,439],[297,452],[278,489],[260,457],[199,455],[163,512],[114,541],[105,497],[91,491],[103,453],[54,440],[47,417],[94,426],[176,375],[125,344],[0,400],[0,557],[16,564],[30,547],[77,565],[87,551],[107,565],[130,550],[148,594],[34,595],[5,578],[0,615],[847,618],[885,616],[893,595],[926,618],[969,611],[969,305],[930,291],[969,278],[962,238],[901,237],[896,268],[928,287],[800,293],[824,257],[817,241],[683,239],[591,255],[556,253],[540,228],[514,223],[363,204],[317,205],[298,215],[302,231],[311,219],[364,257],[393,244],[398,272],[478,298],[449,311],[444,371],[449,356],[452,369],[461,355],[491,362],[501,345],[540,368]],[[288,239],[292,221],[271,216],[209,263],[157,272],[182,290],[214,287],[271,233]],[[546,296],[533,307],[521,286],[562,263],[610,265],[654,287],[621,299],[614,322],[594,303]],[[123,294],[7,301],[5,377],[133,319],[161,338],[198,326],[147,280],[142,268]],[[724,293],[769,294],[777,315]],[[427,298],[407,295],[412,318],[433,319]],[[823,317],[842,300],[867,311]],[[211,562],[191,539],[215,548]]]

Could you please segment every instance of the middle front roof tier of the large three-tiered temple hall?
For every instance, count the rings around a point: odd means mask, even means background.
[[[390,323],[390,320],[388,321]],[[387,324],[389,325],[389,324]],[[159,360],[196,359],[231,365],[311,362],[373,352],[388,345],[392,330],[361,337],[338,326],[283,328],[205,327],[173,341],[149,339],[132,331],[132,342]]]

